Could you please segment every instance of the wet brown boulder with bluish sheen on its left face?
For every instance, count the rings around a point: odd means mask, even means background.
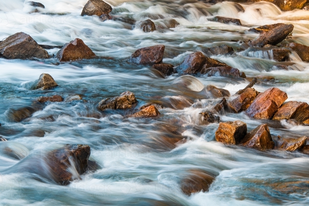
[[[206,63],[206,57],[201,52],[189,54],[184,61],[176,67],[176,71],[182,74],[196,74],[201,71]]]

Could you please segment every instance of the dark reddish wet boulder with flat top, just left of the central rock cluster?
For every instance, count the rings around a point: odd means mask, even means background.
[[[129,62],[136,64],[158,64],[162,62],[165,46],[162,44],[140,48],[130,57]]]

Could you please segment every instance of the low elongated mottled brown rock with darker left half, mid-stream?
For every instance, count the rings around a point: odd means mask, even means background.
[[[131,108],[132,104],[137,100],[132,92],[125,91],[120,96],[107,98],[99,102],[99,109],[127,109]]]

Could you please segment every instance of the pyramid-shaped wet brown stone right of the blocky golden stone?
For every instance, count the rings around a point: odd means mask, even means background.
[[[253,129],[243,138],[240,144],[260,150],[273,149],[274,146],[267,124],[261,124]]]

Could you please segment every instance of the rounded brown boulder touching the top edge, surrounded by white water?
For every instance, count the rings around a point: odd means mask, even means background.
[[[102,0],[89,0],[82,11],[82,16],[109,14],[112,11],[112,6]]]

